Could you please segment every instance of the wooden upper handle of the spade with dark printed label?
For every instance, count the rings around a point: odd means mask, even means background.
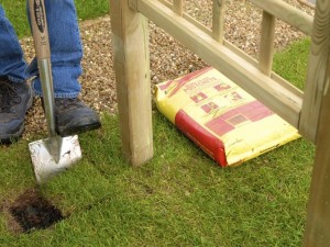
[[[47,18],[44,0],[29,0],[32,34],[37,59],[51,58]]]

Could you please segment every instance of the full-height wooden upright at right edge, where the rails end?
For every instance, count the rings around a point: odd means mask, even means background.
[[[316,159],[308,204],[305,247],[330,245],[330,1],[317,0],[302,108],[302,131],[316,136]],[[306,92],[305,92],[306,93]],[[308,120],[308,117],[317,117]],[[306,128],[311,128],[309,132]],[[311,133],[311,134],[310,134]]]

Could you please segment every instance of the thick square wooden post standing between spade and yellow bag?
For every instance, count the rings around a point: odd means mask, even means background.
[[[110,14],[122,151],[138,166],[153,156],[147,23],[129,0],[110,0]]]

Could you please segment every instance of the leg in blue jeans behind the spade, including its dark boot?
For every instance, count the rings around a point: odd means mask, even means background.
[[[82,47],[74,0],[45,0],[48,24],[51,60],[55,94],[56,127],[62,136],[100,126],[95,111],[77,100],[80,92]],[[35,60],[30,72],[36,75]],[[37,96],[42,96],[40,79],[33,82]]]

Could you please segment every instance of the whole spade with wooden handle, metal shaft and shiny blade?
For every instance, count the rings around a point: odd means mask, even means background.
[[[29,144],[34,173],[38,183],[45,182],[81,158],[77,135],[62,138],[56,134],[51,48],[44,5],[44,0],[29,0],[35,55],[48,128],[48,138]]]

